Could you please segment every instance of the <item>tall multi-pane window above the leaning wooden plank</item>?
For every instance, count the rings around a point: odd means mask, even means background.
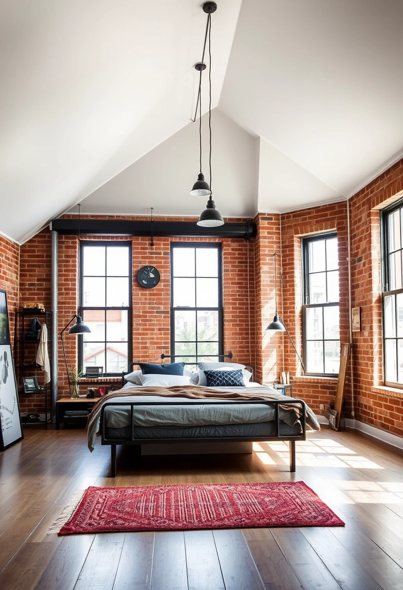
[[[339,259],[336,234],[302,240],[305,373],[338,375]]]

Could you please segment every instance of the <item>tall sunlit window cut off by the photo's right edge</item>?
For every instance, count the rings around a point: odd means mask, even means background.
[[[403,202],[384,209],[381,221],[384,380],[385,385],[403,387]]]

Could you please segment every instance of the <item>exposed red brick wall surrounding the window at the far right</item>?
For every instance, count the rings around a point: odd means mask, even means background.
[[[403,391],[382,388],[382,280],[379,211],[403,190],[403,160],[350,199],[352,307],[361,332],[352,333],[355,418],[403,436]]]

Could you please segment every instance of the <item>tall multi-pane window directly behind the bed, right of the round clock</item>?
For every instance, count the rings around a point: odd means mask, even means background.
[[[171,355],[176,361],[223,354],[220,244],[171,244]]]

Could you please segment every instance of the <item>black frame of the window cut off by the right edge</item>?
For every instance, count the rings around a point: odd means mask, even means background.
[[[397,250],[389,250],[389,225],[388,225],[388,218],[389,215],[393,214],[395,211],[401,210],[400,215],[400,224],[401,224],[401,247],[397,248]],[[379,225],[381,230],[381,273],[382,273],[382,368],[383,368],[383,382],[385,386],[394,387],[397,389],[403,389],[403,382],[399,383],[396,381],[391,381],[387,379],[387,353],[386,350],[386,342],[388,340],[395,340],[395,360],[396,360],[396,369],[398,366],[398,343],[399,341],[403,340],[403,336],[398,336],[396,333],[395,337],[385,336],[387,329],[386,329],[386,313],[385,313],[385,299],[387,297],[393,297],[395,301],[395,325],[398,326],[398,306],[396,305],[396,299],[399,294],[403,293],[403,270],[401,266],[401,273],[402,273],[402,287],[398,289],[390,289],[391,286],[391,267],[389,264],[389,260],[391,259],[391,255],[396,253],[397,251],[401,252],[401,264],[403,264],[403,239],[402,239],[402,215],[403,215],[403,199],[399,199],[395,201],[393,204],[385,207],[380,211],[379,214]],[[397,370],[397,379],[398,379],[398,370]]]

